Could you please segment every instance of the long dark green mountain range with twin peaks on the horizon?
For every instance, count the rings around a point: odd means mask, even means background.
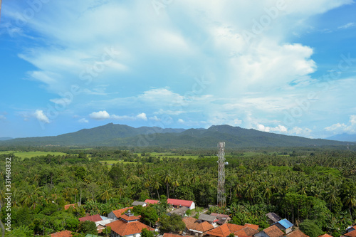
[[[172,129],[160,127],[130,127],[112,123],[78,132],[52,137],[26,137],[1,141],[0,145],[26,146],[132,146],[167,148],[215,148],[217,142],[226,142],[226,147],[308,147],[339,146],[345,142],[328,139],[279,135],[229,125],[211,126],[208,129]]]

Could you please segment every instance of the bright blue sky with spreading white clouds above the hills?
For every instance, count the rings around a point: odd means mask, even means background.
[[[0,137],[109,122],[356,133],[351,0],[3,1]]]

